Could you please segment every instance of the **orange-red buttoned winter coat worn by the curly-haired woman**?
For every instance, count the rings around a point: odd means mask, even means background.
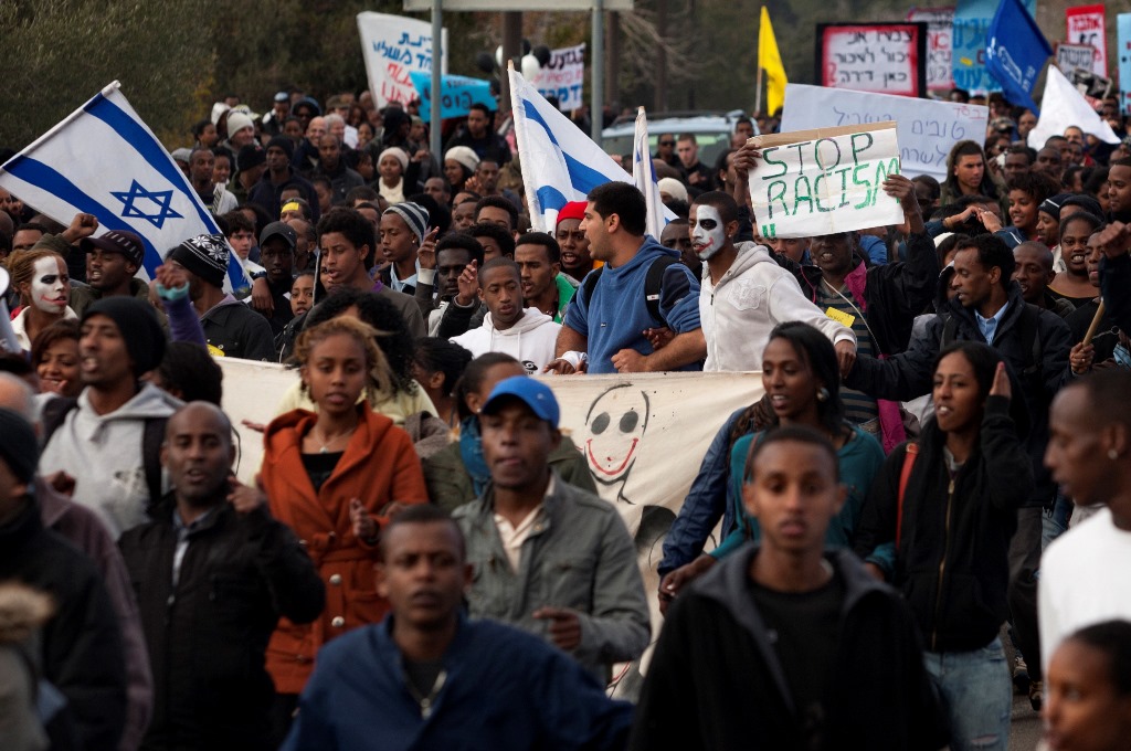
[[[294,529],[326,584],[326,610],[308,625],[280,619],[267,647],[267,670],[279,693],[299,693],[314,668],[318,649],[351,629],[377,623],[389,606],[377,594],[378,547],[354,537],[349,501],[360,498],[383,525],[394,502],[426,503],[424,474],[408,433],[368,404],[357,407],[357,430],[318,493],[302,464],[302,439],[317,415],[294,409],[264,434],[261,478],[271,513]]]

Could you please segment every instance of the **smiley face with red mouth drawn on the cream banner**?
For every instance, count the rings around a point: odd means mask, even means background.
[[[619,484],[616,500],[624,498],[624,482],[636,464],[640,441],[648,429],[648,395],[621,383],[594,399],[585,416],[582,447],[589,469],[604,485]]]

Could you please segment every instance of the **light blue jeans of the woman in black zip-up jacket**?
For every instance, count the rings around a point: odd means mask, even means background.
[[[972,651],[926,651],[924,662],[947,710],[951,751],[1005,751],[1013,688],[1001,639]]]

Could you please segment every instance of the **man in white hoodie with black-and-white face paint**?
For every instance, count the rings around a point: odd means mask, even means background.
[[[761,370],[770,331],[803,321],[829,337],[844,366],[856,357],[852,329],[824,316],[778,266],[768,248],[734,244],[739,205],[720,191],[696,198],[688,218],[691,247],[706,262],[699,290],[699,320],[707,339],[705,371]]]

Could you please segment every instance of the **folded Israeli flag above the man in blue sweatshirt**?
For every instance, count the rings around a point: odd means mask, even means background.
[[[535,228],[553,232],[562,206],[584,201],[597,185],[614,180],[632,182],[628,172],[516,70],[510,70],[510,96],[526,202]]]

